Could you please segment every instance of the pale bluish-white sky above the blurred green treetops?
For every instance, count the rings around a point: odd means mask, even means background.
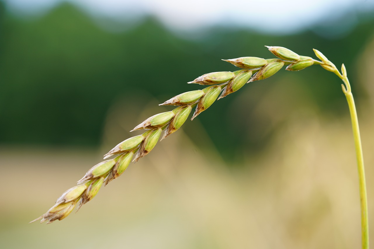
[[[15,12],[46,11],[64,0],[4,0]],[[236,24],[269,32],[293,32],[328,22],[347,10],[374,9],[374,0],[67,0],[95,16],[134,19],[156,15],[172,29]],[[352,17],[350,17],[352,18]],[[354,17],[353,17],[354,19]],[[355,20],[352,20],[355,21]]]

